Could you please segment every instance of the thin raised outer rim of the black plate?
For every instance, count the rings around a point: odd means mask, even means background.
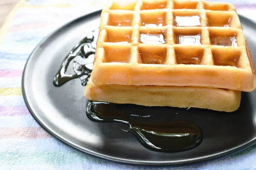
[[[25,101],[26,107],[29,110],[29,113],[32,115],[33,119],[35,119],[35,121],[38,123],[38,125],[43,128],[50,136],[54,137],[55,139],[57,139],[58,141],[60,141],[61,143],[65,144],[68,147],[71,147],[75,150],[78,150],[81,153],[85,153],[87,155],[93,156],[94,158],[97,159],[101,159],[103,161],[111,161],[111,162],[115,162],[115,163],[119,163],[119,164],[128,164],[128,165],[136,165],[136,166],[151,166],[151,167],[155,167],[155,166],[182,166],[182,165],[188,165],[188,164],[198,164],[198,163],[204,163],[207,161],[211,161],[211,160],[215,160],[215,159],[220,159],[220,158],[224,158],[227,156],[231,156],[233,154],[239,153],[251,146],[253,146],[254,144],[256,144],[256,137],[251,139],[250,141],[237,146],[237,147],[233,147],[230,150],[225,150],[223,152],[220,153],[216,153],[210,156],[204,156],[204,157],[199,157],[199,158],[195,158],[195,159],[187,159],[187,160],[183,160],[183,161],[133,161],[133,160],[128,160],[128,159],[119,159],[117,157],[113,157],[113,156],[107,156],[107,155],[102,155],[100,153],[95,153],[91,150],[84,150],[81,147],[76,146],[75,144],[73,144],[70,140],[68,139],[64,139],[61,138],[58,134],[54,133],[52,130],[50,130],[46,125],[44,125],[44,123],[41,122],[41,120],[38,118],[38,116],[36,115],[36,113],[33,111],[33,109],[31,108],[29,101],[26,97],[26,90],[25,90],[25,76],[26,76],[26,68],[27,65],[29,64],[31,58],[34,55],[35,51],[38,50],[39,46],[46,42],[50,37],[52,37],[54,34],[58,33],[62,28],[67,27],[69,25],[71,25],[72,23],[76,23],[78,20],[83,20],[84,18],[90,18],[93,15],[97,15],[99,13],[101,13],[101,10],[97,10],[97,11],[93,11],[90,12],[88,14],[84,14],[80,17],[77,17],[67,23],[65,23],[64,25],[59,26],[58,28],[56,28],[54,31],[52,31],[50,34],[48,34],[46,37],[44,37],[43,40],[41,40],[38,45],[36,45],[36,47],[34,48],[34,50],[31,52],[31,54],[29,55],[26,64],[23,68],[23,74],[22,74],[22,82],[21,82],[21,89],[22,89],[22,96],[23,99]],[[241,20],[247,20],[247,22],[253,24],[256,27],[256,22],[251,20],[250,18],[247,18],[241,14],[238,14],[239,19]]]

